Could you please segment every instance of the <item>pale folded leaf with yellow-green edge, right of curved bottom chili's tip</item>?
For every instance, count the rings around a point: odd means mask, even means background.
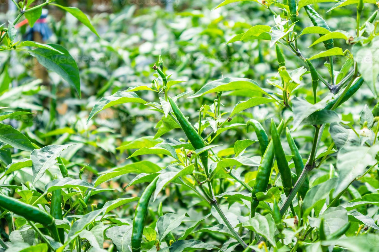
[[[153,201],[157,199],[157,196],[161,192],[163,187],[167,186],[171,181],[174,181],[175,179],[181,176],[192,174],[194,169],[194,164],[191,164],[185,167],[184,169],[181,169],[177,165],[170,165],[166,169],[162,170],[157,181],[157,187],[155,188]]]

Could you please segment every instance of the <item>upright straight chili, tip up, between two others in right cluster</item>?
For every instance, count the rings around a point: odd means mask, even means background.
[[[282,178],[283,190],[285,195],[288,196],[292,189],[292,176],[291,170],[288,166],[287,159],[285,157],[285,153],[280,142],[280,135],[276,129],[276,125],[274,119],[271,119],[271,136],[274,142],[274,151],[276,156],[276,162],[278,165],[278,170],[280,172],[280,176]]]

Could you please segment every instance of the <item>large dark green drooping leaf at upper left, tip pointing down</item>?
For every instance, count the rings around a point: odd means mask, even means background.
[[[81,97],[79,69],[75,59],[63,46],[47,45],[54,48],[55,51],[46,48],[36,48],[28,50],[28,52],[31,56],[36,57],[42,66],[57,73],[66,80],[77,91],[79,97]]]

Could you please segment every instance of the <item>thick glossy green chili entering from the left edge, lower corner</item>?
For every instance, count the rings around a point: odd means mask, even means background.
[[[16,213],[27,219],[28,221],[41,223],[42,226],[49,229],[51,237],[54,240],[60,241],[58,230],[55,226],[53,216],[42,211],[38,207],[18,201],[17,199],[0,194],[0,206],[6,210]]]

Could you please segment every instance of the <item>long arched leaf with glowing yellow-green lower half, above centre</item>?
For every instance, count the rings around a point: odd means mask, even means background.
[[[259,93],[267,94],[259,85],[254,81],[246,78],[224,78],[219,80],[213,80],[205,84],[199,91],[188,98],[195,98],[204,94],[219,92],[219,91],[231,91],[231,90],[252,90]]]

